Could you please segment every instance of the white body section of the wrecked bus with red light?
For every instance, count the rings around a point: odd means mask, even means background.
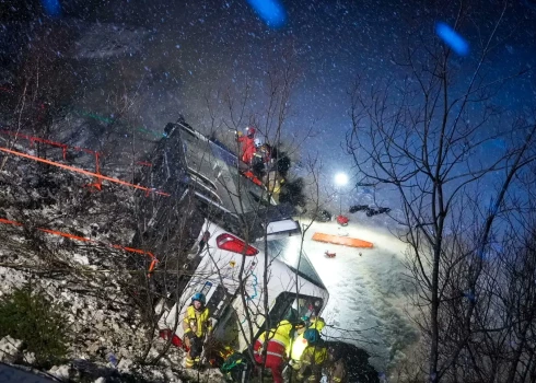
[[[298,222],[293,220],[270,223],[271,235],[266,236],[269,265],[265,267],[264,239],[252,243],[250,252],[258,251],[255,255],[224,249],[225,246],[243,248],[245,244],[242,243],[241,247],[241,240],[236,235],[206,220],[199,240],[205,232],[210,233],[210,239],[196,255],[199,264],[193,270],[191,279],[178,301],[162,316],[161,328],[176,327],[175,334],[183,338],[182,320],[196,292],[203,292],[207,297],[211,317],[217,323],[215,337],[240,351],[250,344],[250,334],[255,337],[263,329],[268,314],[264,310],[265,294],[268,295],[271,326],[276,326],[291,307],[299,316],[319,315],[329,295],[311,262],[301,252],[301,235],[273,235],[295,233],[296,229],[300,232]],[[241,278],[243,259],[245,263]],[[241,281],[245,287],[242,294]]]

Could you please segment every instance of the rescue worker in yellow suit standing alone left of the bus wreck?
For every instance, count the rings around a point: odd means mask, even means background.
[[[184,338],[189,348],[185,362],[187,369],[199,365],[205,337],[212,333],[212,322],[209,318],[209,309],[205,306],[206,303],[205,294],[196,292],[184,315]]]

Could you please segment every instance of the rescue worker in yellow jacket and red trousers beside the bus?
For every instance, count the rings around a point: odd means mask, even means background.
[[[283,368],[287,363],[292,327],[292,323],[283,320],[279,322],[276,328],[260,334],[253,347],[255,361],[259,364],[265,363],[263,357],[266,348],[265,368],[271,370],[275,383],[283,383]]]

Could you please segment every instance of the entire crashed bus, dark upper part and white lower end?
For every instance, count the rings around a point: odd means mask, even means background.
[[[189,187],[205,222],[189,252],[188,279],[165,307],[160,327],[183,339],[180,322],[196,292],[206,295],[214,337],[236,351],[266,329],[267,317],[275,326],[291,311],[298,317],[321,315],[329,294],[302,249],[292,209],[276,205],[261,184],[244,175],[222,143],[184,120],[166,127],[172,130],[180,136]]]

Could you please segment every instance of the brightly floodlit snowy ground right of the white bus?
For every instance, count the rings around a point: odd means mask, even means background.
[[[349,216],[350,220],[356,217]],[[403,350],[417,340],[418,333],[405,313],[410,293],[403,277],[406,246],[385,228],[370,222],[374,221],[350,221],[346,228],[335,221],[314,222],[305,232],[304,249],[329,291],[323,314],[328,324],[325,334],[366,350],[371,364],[382,373],[403,358]],[[315,242],[311,239],[315,232],[365,240],[374,247]],[[326,251],[336,257],[326,257]]]

